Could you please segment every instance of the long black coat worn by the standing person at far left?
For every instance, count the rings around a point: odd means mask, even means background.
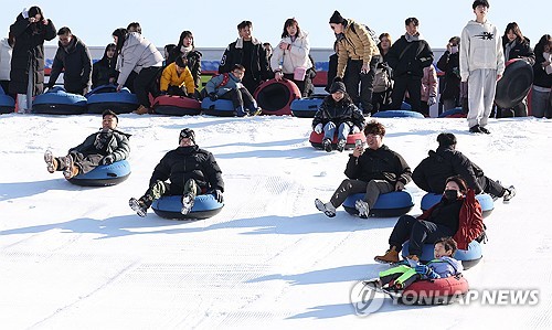
[[[20,13],[11,24],[10,32],[15,36],[11,57],[10,93],[26,94],[29,68],[34,73],[33,96],[44,91],[44,41],[56,35],[51,20],[31,23]]]

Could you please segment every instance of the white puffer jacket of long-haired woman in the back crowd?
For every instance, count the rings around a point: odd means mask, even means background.
[[[285,74],[293,74],[296,67],[312,67],[314,63],[309,58],[310,44],[306,32],[301,31],[295,41],[291,41],[290,36],[286,36],[280,42],[288,43],[291,47],[284,51],[279,46],[274,49],[270,57],[270,68],[274,72],[282,70]]]

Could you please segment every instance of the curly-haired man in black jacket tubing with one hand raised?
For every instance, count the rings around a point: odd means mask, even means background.
[[[336,216],[336,207],[355,193],[365,193],[354,203],[361,217],[368,217],[378,198],[382,193],[401,191],[412,179],[411,168],[397,152],[383,145],[385,127],[372,120],[364,128],[368,149],[357,146],[349,157],[344,174],[347,178],[333,192],[330,201],[315,200],[318,211],[329,217]]]

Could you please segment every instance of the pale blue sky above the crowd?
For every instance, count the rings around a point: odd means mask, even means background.
[[[64,1],[63,1],[64,2]],[[468,20],[474,19],[471,0],[388,0],[388,1],[4,1],[0,26],[8,32],[23,8],[39,6],[59,29],[71,28],[89,46],[105,46],[112,32],[138,21],[144,35],[158,47],[177,43],[180,33],[190,30],[197,47],[225,47],[237,38],[236,25],[243,20],[253,22],[253,34],[263,42],[276,45],[286,19],[295,17],[299,26],[309,32],[312,47],[331,47],[333,34],[329,18],[339,10],[343,18],[365,23],[378,34],[391,33],[393,40],[404,34],[404,20],[416,17],[421,32],[435,49],[444,49],[448,39],[459,35]],[[78,4],[73,4],[78,3]],[[378,4],[376,4],[378,3]],[[516,21],[534,45],[545,33],[552,33],[550,1],[491,0],[489,21],[503,33]],[[527,4],[526,4],[527,3]],[[545,3],[549,3],[548,6]],[[546,9],[548,7],[548,9]],[[539,10],[541,9],[541,10]],[[1,31],[1,30],[0,30]],[[50,44],[55,44],[50,42]]]

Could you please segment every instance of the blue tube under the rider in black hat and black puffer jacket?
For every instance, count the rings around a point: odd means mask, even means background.
[[[151,209],[157,215],[173,220],[208,219],[221,212],[223,206],[224,204],[219,203],[212,194],[195,196],[193,207],[188,214],[180,213],[182,210],[181,195],[162,196],[151,204]]]

